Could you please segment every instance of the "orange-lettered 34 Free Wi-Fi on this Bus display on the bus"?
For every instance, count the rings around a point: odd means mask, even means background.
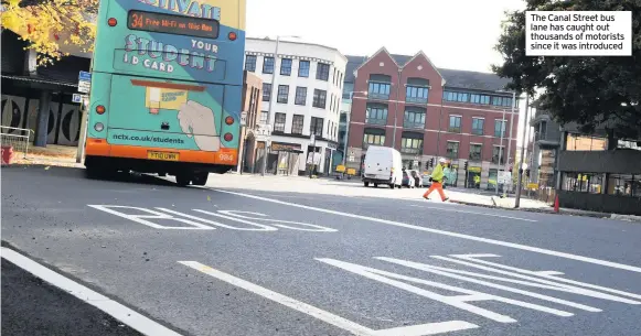
[[[130,30],[217,39],[220,22],[216,20],[129,11],[127,28]]]

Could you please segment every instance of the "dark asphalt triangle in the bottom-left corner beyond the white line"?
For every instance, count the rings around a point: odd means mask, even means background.
[[[4,259],[1,333],[12,336],[142,335]]]

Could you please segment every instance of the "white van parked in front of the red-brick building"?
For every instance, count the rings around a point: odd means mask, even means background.
[[[400,188],[403,182],[403,162],[400,152],[389,147],[370,145],[365,153],[363,184],[378,186],[387,184],[391,188]]]

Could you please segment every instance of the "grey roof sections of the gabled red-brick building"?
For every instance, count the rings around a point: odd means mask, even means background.
[[[383,48],[382,48],[383,50]],[[381,50],[378,51],[381,52]],[[346,76],[345,82],[354,82],[354,71],[357,69],[365,61],[367,56],[355,56],[345,55],[348,57]],[[405,66],[415,56],[409,55],[397,55],[391,54],[392,58],[398,64],[398,66]],[[499,91],[504,90],[505,85],[510,83],[508,78],[501,78],[492,73],[480,73],[480,72],[469,72],[469,71],[457,71],[448,68],[437,68],[437,71],[445,77],[447,84],[446,87],[451,88],[462,88],[471,90],[487,90],[487,91]]]

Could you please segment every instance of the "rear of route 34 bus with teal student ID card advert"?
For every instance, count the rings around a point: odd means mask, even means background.
[[[204,185],[241,143],[245,0],[103,0],[85,166]]]

